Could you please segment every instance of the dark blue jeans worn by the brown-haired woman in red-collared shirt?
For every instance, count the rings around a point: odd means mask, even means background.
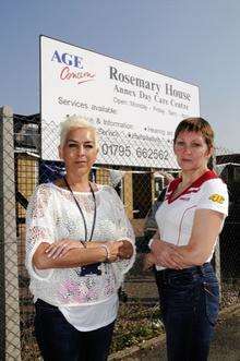
[[[155,272],[168,361],[206,361],[219,309],[219,288],[209,263]]]

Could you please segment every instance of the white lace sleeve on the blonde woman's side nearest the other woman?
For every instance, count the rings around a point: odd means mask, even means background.
[[[116,276],[119,281],[119,285],[123,280],[123,275],[133,266],[135,261],[135,236],[133,232],[132,225],[130,224],[129,218],[127,217],[124,205],[120,200],[118,193],[112,189],[109,188],[109,191],[112,196],[112,212],[115,214],[119,240],[124,239],[132,243],[133,245],[133,255],[130,260],[122,260],[112,263],[112,267],[116,270]]]

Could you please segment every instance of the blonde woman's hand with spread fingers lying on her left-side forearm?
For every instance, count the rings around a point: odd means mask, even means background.
[[[46,253],[49,258],[59,258],[65,255],[70,250],[83,249],[83,244],[80,241],[73,241],[63,239],[61,241],[51,243],[47,249]]]

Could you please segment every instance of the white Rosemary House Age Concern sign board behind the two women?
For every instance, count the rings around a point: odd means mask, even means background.
[[[176,167],[175,129],[200,115],[195,85],[46,36],[40,37],[40,85],[46,160],[58,159],[59,122],[80,115],[98,129],[98,164]]]

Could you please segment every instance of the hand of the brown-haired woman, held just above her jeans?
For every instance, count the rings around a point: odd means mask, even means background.
[[[178,253],[177,245],[155,239],[151,244],[151,250],[157,266],[175,269],[184,268],[185,264],[183,257]]]

